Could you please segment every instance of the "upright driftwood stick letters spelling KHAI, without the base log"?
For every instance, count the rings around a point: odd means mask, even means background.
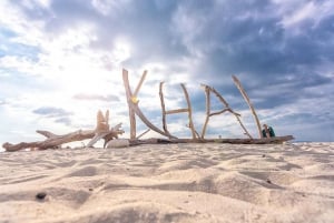
[[[190,104],[190,100],[189,100],[189,95],[188,92],[186,90],[186,87],[184,84],[180,84],[187,101],[187,105],[188,108],[186,109],[175,109],[175,110],[168,110],[166,111],[166,107],[165,107],[165,100],[164,100],[164,93],[163,93],[163,84],[164,82],[160,82],[159,85],[159,97],[160,97],[160,104],[161,104],[161,112],[163,112],[163,130],[160,130],[159,128],[157,128],[156,125],[154,125],[141,112],[141,110],[139,109],[139,100],[137,99],[137,94],[139,92],[139,89],[144,82],[144,79],[147,74],[147,71],[144,72],[139,83],[137,84],[136,91],[135,93],[131,93],[131,89],[129,85],[129,79],[128,79],[128,71],[127,70],[122,70],[122,80],[124,80],[124,85],[125,85],[125,90],[126,90],[126,95],[127,95],[127,102],[128,102],[128,107],[129,107],[129,118],[130,118],[130,140],[138,140],[140,136],[136,138],[136,116],[139,116],[140,120],[153,131],[167,136],[169,140],[175,140],[177,141],[177,138],[171,135],[170,132],[168,131],[167,128],[167,122],[166,122],[166,115],[167,114],[175,114],[175,113],[183,113],[183,112],[187,112],[188,113],[188,120],[189,120],[189,124],[187,125],[190,130],[191,130],[191,134],[193,134],[193,140],[196,141],[197,139],[199,140],[205,140],[205,132],[206,132],[206,128],[209,121],[209,118],[213,115],[217,115],[217,114],[222,114],[224,112],[230,112],[232,114],[235,115],[237,122],[240,124],[242,129],[244,130],[244,134],[246,134],[249,140],[252,141],[253,138],[249,134],[249,132],[247,131],[247,129],[245,128],[245,125],[243,124],[242,120],[240,120],[240,114],[235,112],[234,110],[232,110],[228,105],[228,103],[225,101],[225,99],[214,89],[210,88],[208,85],[203,84],[203,87],[205,88],[205,93],[206,93],[206,119],[204,122],[204,126],[202,130],[202,134],[199,135],[194,126],[193,123],[193,111],[191,111],[191,104]],[[263,139],[262,135],[262,130],[261,130],[261,124],[259,124],[259,120],[257,118],[257,114],[255,112],[254,105],[250,102],[250,99],[248,98],[246,91],[244,90],[244,88],[242,87],[242,83],[239,82],[239,80],[233,75],[233,80],[237,87],[237,89],[240,91],[242,95],[244,97],[245,101],[247,102],[248,107],[250,108],[250,111],[255,118],[256,124],[257,124],[257,129],[258,129],[258,133],[259,133],[259,139]],[[210,111],[210,93],[214,93],[218,100],[225,105],[225,108],[220,111],[217,112],[212,112]],[[145,132],[146,133],[146,132]],[[145,134],[144,133],[144,134]],[[246,142],[248,142],[248,139],[245,139]],[[265,142],[268,142],[268,140],[264,140]],[[252,142],[257,142],[256,139],[255,141]]]

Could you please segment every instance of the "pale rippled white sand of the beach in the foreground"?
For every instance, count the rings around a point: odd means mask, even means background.
[[[334,143],[13,152],[0,169],[0,222],[334,222]]]

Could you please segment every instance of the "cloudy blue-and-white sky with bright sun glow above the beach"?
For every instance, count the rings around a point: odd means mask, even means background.
[[[99,109],[127,138],[122,68],[132,89],[148,71],[139,105],[159,128],[160,81],[168,110],[185,107],[186,84],[198,132],[205,83],[257,136],[235,74],[276,134],[334,140],[333,0],[1,0],[1,144],[43,139],[36,130],[94,129]],[[213,109],[223,108],[213,97]],[[190,136],[185,113],[167,120],[171,133]],[[208,136],[243,136],[228,113],[208,128]]]

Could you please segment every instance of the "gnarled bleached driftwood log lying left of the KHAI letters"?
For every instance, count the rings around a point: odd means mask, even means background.
[[[97,115],[97,128],[95,130],[79,130],[62,135],[58,135],[49,131],[37,130],[37,133],[42,134],[47,138],[47,140],[37,142],[21,142],[18,144],[6,142],[2,144],[2,148],[4,148],[4,150],[8,152],[14,152],[23,149],[47,150],[57,149],[65,143],[82,141],[87,139],[91,139],[87,146],[92,146],[100,139],[105,140],[106,145],[108,141],[117,139],[119,134],[124,133],[124,131],[120,129],[121,123],[109,129],[108,118],[109,111],[106,112],[106,116],[104,116],[101,111],[99,111]]]

